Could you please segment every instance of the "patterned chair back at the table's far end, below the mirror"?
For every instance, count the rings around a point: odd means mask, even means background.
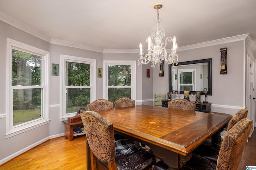
[[[195,111],[196,105],[184,99],[176,99],[168,102],[168,108]]]

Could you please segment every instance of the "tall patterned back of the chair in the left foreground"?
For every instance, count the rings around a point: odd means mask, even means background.
[[[113,124],[95,111],[82,115],[88,145],[96,158],[102,162],[115,161],[115,139]],[[91,160],[92,167],[94,160]]]

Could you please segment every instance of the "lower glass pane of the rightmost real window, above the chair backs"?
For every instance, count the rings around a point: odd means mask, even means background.
[[[131,88],[108,88],[109,101],[115,102],[122,97],[131,98]]]

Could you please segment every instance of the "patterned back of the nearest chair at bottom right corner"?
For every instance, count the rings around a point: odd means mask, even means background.
[[[242,119],[226,133],[220,147],[217,170],[236,170],[238,168],[251,129],[252,121]]]

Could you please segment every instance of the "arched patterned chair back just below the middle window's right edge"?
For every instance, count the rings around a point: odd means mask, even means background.
[[[88,110],[98,111],[98,110],[113,109],[113,105],[114,105],[113,102],[110,102],[105,99],[98,99],[88,104],[87,107],[88,107]]]

